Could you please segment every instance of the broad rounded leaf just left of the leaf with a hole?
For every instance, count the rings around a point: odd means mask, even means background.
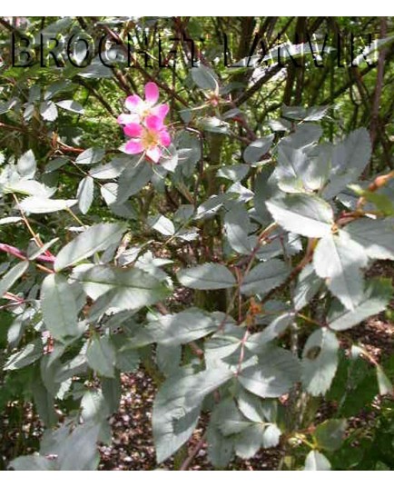
[[[245,389],[260,397],[280,397],[300,380],[300,363],[291,352],[270,347],[261,352],[259,363],[239,374]]]

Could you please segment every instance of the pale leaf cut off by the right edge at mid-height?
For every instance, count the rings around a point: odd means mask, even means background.
[[[371,259],[394,260],[394,220],[360,218],[343,230],[360,244]]]

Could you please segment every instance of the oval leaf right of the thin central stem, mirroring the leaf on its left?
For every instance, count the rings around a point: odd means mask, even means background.
[[[242,294],[265,294],[286,281],[288,266],[279,259],[259,263],[251,269],[241,284]]]

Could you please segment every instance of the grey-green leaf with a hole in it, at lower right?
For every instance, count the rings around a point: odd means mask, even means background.
[[[331,382],[337,372],[339,356],[335,333],[327,328],[315,330],[305,343],[302,352],[302,383],[305,389],[317,396],[330,389]]]

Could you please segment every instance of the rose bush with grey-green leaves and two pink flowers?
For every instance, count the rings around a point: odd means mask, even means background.
[[[158,386],[158,464],[189,466],[203,412],[216,468],[272,447],[281,468],[341,468],[347,419],[392,393],[392,361],[385,371],[350,330],[392,299],[369,269],[394,260],[393,172],[368,173],[369,131],[343,134],[333,107],[283,105],[262,121],[242,109],[247,66],[236,82],[200,53],[177,88],[143,83],[141,67],[133,89],[119,63],[28,84],[5,71],[21,94],[2,92],[3,130],[26,138],[7,141],[0,168],[0,405],[32,401],[45,427],[38,452],[9,465],[97,468],[120,374],[141,365]],[[110,118],[64,98],[77,85]]]

